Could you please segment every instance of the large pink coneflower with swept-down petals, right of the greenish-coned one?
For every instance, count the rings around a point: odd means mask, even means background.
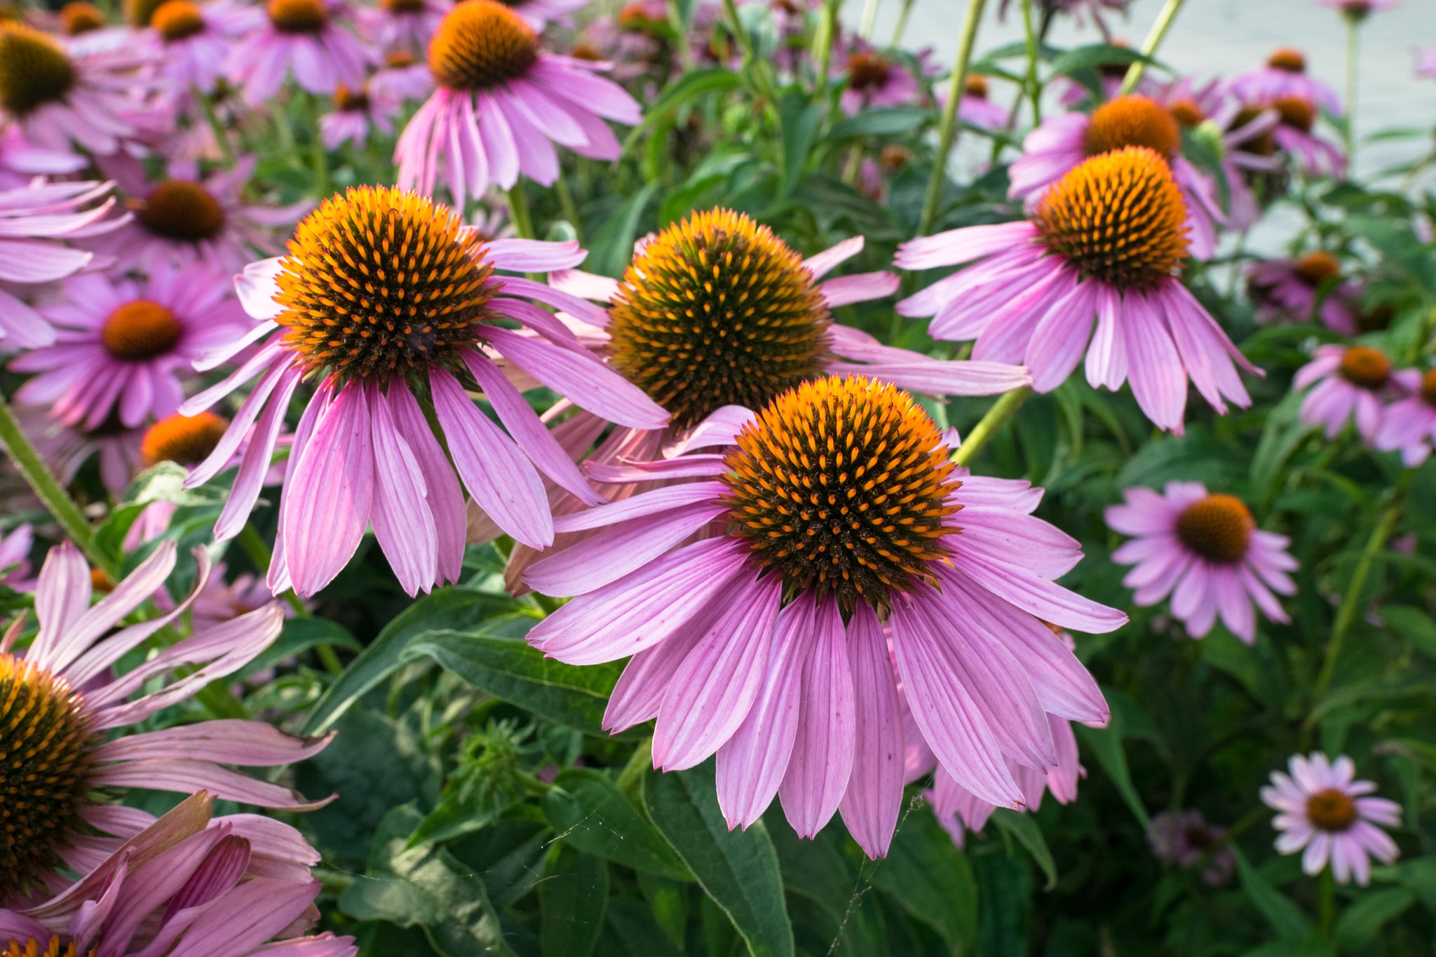
[[[1155,151],[1093,156],[1053,184],[1027,221],[899,247],[896,264],[909,270],[982,261],[898,311],[933,316],[935,339],[976,339],[974,359],[1027,364],[1038,392],[1066,382],[1086,352],[1088,383],[1119,389],[1130,379],[1146,416],[1180,432],[1188,377],[1225,413],[1223,397],[1251,403],[1236,366],[1261,374],[1178,278],[1186,220]]]

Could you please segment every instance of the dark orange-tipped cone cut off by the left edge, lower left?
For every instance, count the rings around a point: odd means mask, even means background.
[[[0,900],[59,862],[80,825],[95,736],[69,683],[0,654]]]

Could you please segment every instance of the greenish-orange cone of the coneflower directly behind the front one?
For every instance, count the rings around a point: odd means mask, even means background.
[[[801,257],[731,209],[695,212],[649,241],[609,317],[615,367],[673,416],[760,409],[821,372],[831,317]]]

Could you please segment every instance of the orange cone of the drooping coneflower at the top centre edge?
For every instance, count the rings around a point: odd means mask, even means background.
[[[434,82],[481,90],[520,77],[538,62],[538,36],[523,17],[493,0],[465,0],[449,10],[429,40]]]

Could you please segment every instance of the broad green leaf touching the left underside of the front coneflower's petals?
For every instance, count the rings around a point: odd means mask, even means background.
[[[467,631],[426,631],[399,653],[401,661],[431,657],[474,687],[510,704],[603,735],[603,709],[623,667],[613,661],[577,667],[544,657],[521,638]]]

